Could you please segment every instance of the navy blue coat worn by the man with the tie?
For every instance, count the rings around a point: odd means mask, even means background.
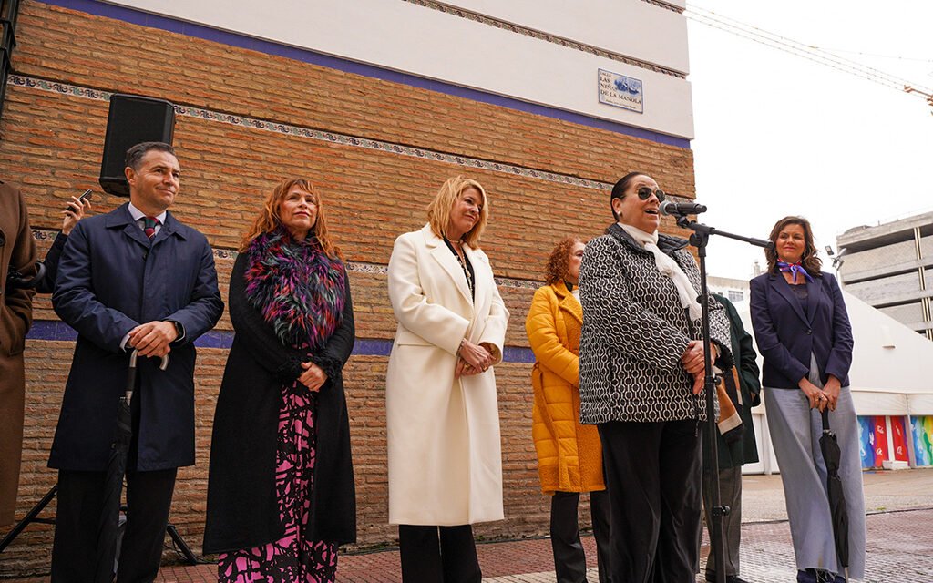
[[[136,467],[194,464],[193,342],[224,309],[207,239],[167,214],[150,241],[127,204],[85,218],[65,243],[52,305],[78,337],[49,467],[106,469],[130,362],[119,343],[153,320],[179,322],[185,337],[172,344],[168,369],[156,358],[138,361]]]

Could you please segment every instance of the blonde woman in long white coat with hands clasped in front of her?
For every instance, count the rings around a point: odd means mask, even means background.
[[[427,215],[389,259],[398,321],[385,388],[389,522],[404,581],[478,583],[470,525],[503,519],[493,367],[508,310],[479,248],[489,217],[480,184],[447,180]]]

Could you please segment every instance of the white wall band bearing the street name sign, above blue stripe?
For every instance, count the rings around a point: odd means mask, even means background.
[[[407,2],[116,0],[111,4],[680,138],[693,137],[690,88],[684,79]],[[686,34],[681,40],[686,42]],[[599,68],[641,79],[645,113],[600,104]]]

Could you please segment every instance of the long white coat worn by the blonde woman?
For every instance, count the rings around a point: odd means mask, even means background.
[[[496,348],[508,310],[489,258],[464,245],[476,299],[456,257],[430,226],[397,238],[389,299],[398,321],[385,380],[389,523],[453,526],[503,519],[495,372],[453,378],[466,338]]]

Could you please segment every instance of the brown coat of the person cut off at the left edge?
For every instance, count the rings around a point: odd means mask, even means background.
[[[32,289],[10,285],[11,271],[35,272],[35,242],[20,189],[0,182],[0,526],[13,521],[20,483],[25,377],[22,349],[33,323]]]

